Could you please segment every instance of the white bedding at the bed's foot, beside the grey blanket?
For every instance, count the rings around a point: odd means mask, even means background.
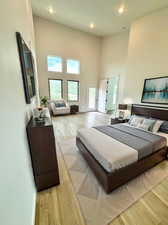
[[[168,134],[161,132],[155,134],[166,137],[168,143]],[[108,172],[138,161],[138,152],[135,149],[94,128],[80,129],[77,137],[81,139],[90,153]]]

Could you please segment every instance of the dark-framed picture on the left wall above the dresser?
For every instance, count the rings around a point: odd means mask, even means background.
[[[30,104],[31,98],[36,95],[34,59],[19,32],[16,32],[16,39],[22,70],[25,100],[27,104]]]

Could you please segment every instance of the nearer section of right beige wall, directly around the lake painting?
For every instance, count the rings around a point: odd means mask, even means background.
[[[140,103],[145,78],[168,76],[168,8],[133,23],[124,101]]]

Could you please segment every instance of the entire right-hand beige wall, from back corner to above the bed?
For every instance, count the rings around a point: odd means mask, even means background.
[[[168,76],[168,9],[102,41],[101,79],[120,75],[119,103],[140,103],[145,78]]]

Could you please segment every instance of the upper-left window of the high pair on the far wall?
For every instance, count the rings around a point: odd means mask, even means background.
[[[48,56],[48,71],[50,72],[62,72],[62,58],[58,56]]]

